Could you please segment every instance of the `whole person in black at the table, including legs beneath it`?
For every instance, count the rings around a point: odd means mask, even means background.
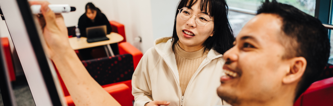
[[[80,18],[79,18],[79,23],[78,23],[78,28],[80,29],[80,33],[82,37],[87,37],[86,34],[86,28],[87,27],[92,27],[92,26],[100,26],[100,25],[106,25],[107,26],[107,34],[110,34],[112,31],[110,22],[108,18],[101,12],[101,10],[93,3],[87,3],[86,4],[86,13],[84,13]],[[113,50],[117,50],[118,46],[113,46],[114,44],[111,45]],[[92,51],[93,49],[96,48],[103,48],[103,47],[93,47],[93,48],[86,48],[86,49],[81,49],[79,50],[81,57],[83,60],[87,59],[93,59],[92,56]],[[118,54],[118,52],[116,52]]]

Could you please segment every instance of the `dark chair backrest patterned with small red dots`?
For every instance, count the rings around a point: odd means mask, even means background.
[[[131,80],[134,72],[131,54],[84,60],[82,63],[100,85]]]

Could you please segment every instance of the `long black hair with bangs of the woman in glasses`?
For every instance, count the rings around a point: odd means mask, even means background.
[[[178,36],[176,32],[176,18],[179,12],[178,9],[183,7],[190,8],[199,0],[180,0],[176,9],[176,14],[174,18],[174,26],[172,33],[172,46],[178,43]],[[233,36],[233,31],[231,29],[228,15],[228,6],[225,0],[200,0],[199,3],[200,11],[204,11],[206,14],[214,18],[214,33],[213,36],[209,36],[206,41],[204,41],[204,50],[214,49],[216,52],[223,54],[227,50],[233,47],[233,42],[235,37]],[[204,51],[205,52],[205,51]]]

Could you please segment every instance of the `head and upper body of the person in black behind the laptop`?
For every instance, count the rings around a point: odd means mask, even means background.
[[[86,4],[86,13],[79,18],[78,28],[82,37],[87,37],[86,28],[92,26],[106,25],[107,34],[112,31],[108,18],[93,3]]]

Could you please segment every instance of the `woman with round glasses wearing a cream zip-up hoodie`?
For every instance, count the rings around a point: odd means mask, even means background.
[[[132,78],[134,106],[222,105],[222,54],[234,42],[224,0],[180,0],[172,37],[155,40]]]

